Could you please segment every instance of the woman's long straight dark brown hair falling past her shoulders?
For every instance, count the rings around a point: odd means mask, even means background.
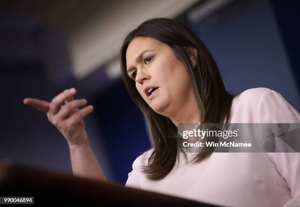
[[[122,78],[131,99],[146,117],[154,147],[148,165],[142,166],[142,172],[149,180],[160,180],[167,176],[175,166],[178,158],[177,127],[168,118],[156,113],[141,97],[135,87],[135,81],[127,75],[126,51],[129,43],[138,36],[152,37],[167,45],[174,51],[187,69],[190,84],[196,96],[202,123],[228,123],[232,100],[235,95],[225,90],[219,68],[199,37],[187,26],[177,20],[167,18],[154,18],[145,21],[125,37],[121,48]],[[188,48],[197,50],[197,58]],[[190,55],[197,59],[196,67]],[[149,150],[148,150],[149,151]],[[146,151],[147,152],[147,151]],[[208,158],[213,151],[199,153],[194,163]],[[187,158],[186,154],[184,154]]]

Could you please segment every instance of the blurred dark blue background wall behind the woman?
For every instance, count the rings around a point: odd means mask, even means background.
[[[239,0],[190,26],[216,59],[226,89],[267,87],[300,110],[299,1]],[[72,172],[69,149],[46,114],[25,106],[25,97],[50,101],[65,88],[94,105],[85,124],[106,177],[125,183],[133,160],[150,148],[144,117],[119,78],[100,66],[89,76],[72,75],[64,33],[39,19],[0,11],[0,159]]]

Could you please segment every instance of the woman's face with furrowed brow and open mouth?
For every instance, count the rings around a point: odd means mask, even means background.
[[[142,98],[159,114],[168,116],[182,110],[195,98],[183,62],[168,45],[154,38],[136,37],[130,42],[126,67]],[[151,92],[149,87],[156,89]]]

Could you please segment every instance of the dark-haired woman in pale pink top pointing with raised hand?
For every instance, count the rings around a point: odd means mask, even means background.
[[[279,93],[268,88],[227,93],[201,40],[188,27],[166,18],[148,20],[126,36],[121,70],[154,143],[134,160],[125,186],[222,206],[300,206],[298,153],[211,151],[178,156],[179,123],[300,123],[299,112]],[[67,139],[75,175],[105,180],[82,120],[92,108],[79,110],[86,101],[73,100],[74,95],[72,89],[51,103],[24,103],[47,112]]]

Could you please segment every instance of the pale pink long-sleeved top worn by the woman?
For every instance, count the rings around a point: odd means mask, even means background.
[[[229,122],[300,123],[300,114],[276,91],[252,88],[234,99]],[[167,177],[149,181],[139,166],[151,152],[134,160],[125,186],[221,206],[300,207],[300,153],[213,153],[197,164],[181,159]]]

